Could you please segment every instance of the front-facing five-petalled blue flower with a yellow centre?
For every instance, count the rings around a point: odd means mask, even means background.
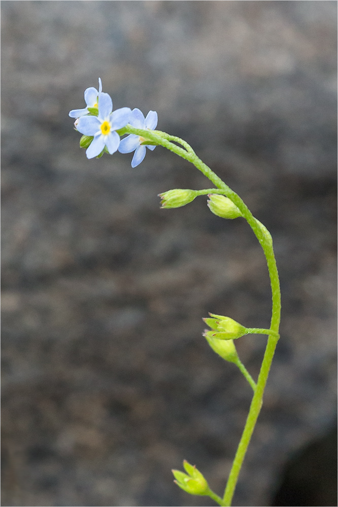
[[[98,96],[98,116],[82,116],[77,123],[77,130],[81,134],[93,135],[89,147],[86,150],[87,158],[97,157],[107,146],[109,153],[115,153],[120,144],[120,136],[115,130],[123,128],[130,119],[129,107],[121,107],[113,111],[113,102],[108,93],[100,93]]]

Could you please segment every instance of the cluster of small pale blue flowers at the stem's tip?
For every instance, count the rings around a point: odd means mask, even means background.
[[[113,102],[108,93],[102,91],[102,82],[98,79],[98,90],[87,88],[84,93],[86,107],[74,109],[69,113],[76,118],[74,126],[81,134],[81,148],[86,148],[88,159],[100,157],[105,152],[113,155],[117,150],[120,153],[135,152],[131,167],[136,167],[146,156],[146,147],[149,150],[156,148],[155,144],[146,144],[147,138],[141,135],[129,134],[120,139],[117,130],[130,125],[140,130],[154,130],[157,125],[157,113],[149,111],[146,118],[135,108],[121,107],[113,111]],[[149,142],[149,140],[148,140]]]

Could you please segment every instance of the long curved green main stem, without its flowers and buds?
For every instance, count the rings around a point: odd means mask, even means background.
[[[253,399],[250,405],[249,414],[247,417],[247,421],[242,433],[241,441],[239,443],[238,449],[236,451],[232,467],[230,470],[230,474],[228,477],[228,481],[225,487],[222,505],[229,507],[231,505],[233,493],[238,481],[238,477],[241,471],[241,467],[245,458],[245,454],[247,452],[251,436],[253,430],[256,425],[256,421],[262,406],[263,402],[263,393],[268,377],[269,370],[271,368],[272,360],[274,357],[276,345],[279,339],[279,324],[281,318],[281,293],[280,293],[280,283],[279,276],[277,270],[277,264],[273,249],[272,238],[267,229],[254,218],[253,214],[247,207],[247,205],[243,202],[239,195],[237,195],[233,190],[231,190],[218,176],[215,174],[210,167],[208,167],[204,162],[202,162],[193,149],[189,146],[186,141],[174,136],[170,136],[169,134],[162,133],[160,131],[152,130],[141,130],[131,127],[127,125],[123,129],[117,131],[119,135],[123,134],[136,134],[140,135],[145,139],[144,144],[146,144],[146,140],[152,141],[153,144],[159,144],[164,148],[176,153],[180,157],[184,158],[191,162],[199,171],[201,171],[210,181],[217,187],[217,189],[222,191],[222,194],[226,195],[242,212],[242,215],[250,225],[253,230],[255,236],[257,237],[261,247],[263,248],[264,255],[267,262],[267,268],[270,277],[271,283],[271,291],[272,291],[272,317],[270,329],[274,333],[274,335],[269,335],[263,361],[261,364],[260,372],[258,375],[258,380],[256,384],[256,388],[254,390]],[[181,144],[183,148],[174,144],[175,141]],[[205,192],[205,191],[201,191]],[[211,193],[211,192],[209,192]],[[216,192],[214,192],[216,193]],[[202,194],[201,194],[202,195]]]

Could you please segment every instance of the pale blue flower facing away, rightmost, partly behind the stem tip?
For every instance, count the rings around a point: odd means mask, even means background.
[[[131,112],[129,123],[135,128],[154,130],[157,125],[157,113],[156,111],[149,111],[145,118],[142,112],[135,108]],[[141,142],[144,141],[145,139],[143,137],[135,134],[129,134],[127,137],[124,137],[124,139],[121,139],[119,146],[120,153],[130,153],[135,150],[131,161],[131,167],[136,167],[141,164],[146,156],[146,147],[149,148],[149,150],[155,150],[156,146],[152,144],[141,144]]]

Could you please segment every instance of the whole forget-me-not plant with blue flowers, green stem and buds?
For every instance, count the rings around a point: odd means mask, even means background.
[[[73,110],[69,115],[72,118],[77,118],[75,127],[79,132],[84,134],[80,139],[80,147],[87,149],[87,158],[98,158],[104,153],[113,154],[117,150],[120,153],[135,151],[131,165],[132,167],[136,167],[144,160],[146,147],[154,150],[156,146],[162,146],[170,150],[191,162],[215,187],[204,190],[167,190],[159,194],[161,207],[178,208],[189,204],[198,196],[208,196],[209,200],[207,204],[215,215],[228,220],[245,219],[263,249],[272,291],[272,316],[269,329],[247,328],[230,317],[215,313],[209,313],[210,316],[203,319],[210,328],[210,330],[206,330],[203,334],[207,343],[222,359],[238,367],[253,391],[249,414],[224,493],[222,496],[214,493],[199,470],[186,460],[183,462],[185,472],[173,470],[176,484],[187,493],[209,496],[219,505],[230,506],[244,457],[262,407],[268,373],[279,340],[281,293],[271,234],[252,215],[240,196],[231,190],[210,167],[197,157],[186,141],[174,135],[155,130],[157,126],[157,113],[155,111],[150,111],[146,118],[144,118],[138,108],[131,111],[129,107],[122,107],[112,112],[112,99],[108,93],[102,92],[100,80],[99,90],[87,88],[85,100],[87,104],[85,109]],[[97,103],[94,100],[97,100]],[[120,140],[120,136],[125,134],[128,134],[127,137]],[[252,378],[243,365],[234,345],[234,340],[248,334],[268,336],[257,381]]]

